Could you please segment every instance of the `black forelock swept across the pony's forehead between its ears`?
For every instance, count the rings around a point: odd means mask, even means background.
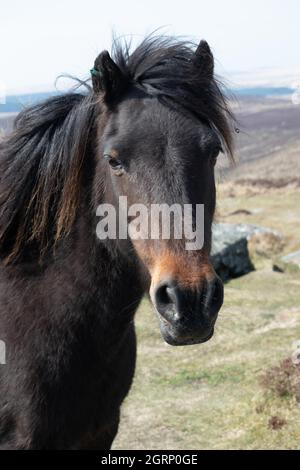
[[[112,58],[129,83],[213,127],[233,161],[235,118],[225,87],[205,67],[195,66],[195,48],[188,41],[150,35],[131,53],[130,43],[115,39]]]

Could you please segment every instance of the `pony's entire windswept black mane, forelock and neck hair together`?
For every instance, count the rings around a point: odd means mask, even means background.
[[[132,53],[115,40],[112,58],[128,87],[206,121],[232,155],[233,116],[218,81],[195,65],[195,47],[146,38]],[[100,99],[99,99],[100,98]],[[122,96],[119,97],[122,99]],[[95,152],[100,96],[68,93],[23,110],[0,143],[0,259],[40,256],[69,233],[80,204],[83,167]],[[39,257],[38,256],[38,257]]]

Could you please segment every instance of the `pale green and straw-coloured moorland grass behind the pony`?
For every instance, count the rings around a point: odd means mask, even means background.
[[[219,212],[249,207],[263,213],[247,222],[281,229],[287,252],[300,248],[300,191],[225,198]],[[230,282],[214,338],[185,348],[163,342],[145,299],[136,317],[135,380],[114,449],[300,450],[300,404],[261,383],[300,340],[299,286],[299,274],[270,266]]]

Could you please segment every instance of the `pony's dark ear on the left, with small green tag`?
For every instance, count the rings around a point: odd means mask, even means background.
[[[98,55],[91,75],[94,92],[103,93],[107,104],[118,98],[127,85],[126,77],[107,51]]]

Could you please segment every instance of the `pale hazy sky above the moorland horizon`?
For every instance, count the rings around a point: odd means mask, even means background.
[[[48,88],[60,73],[85,77],[111,31],[205,38],[219,71],[300,67],[299,0],[2,0],[0,82]]]

